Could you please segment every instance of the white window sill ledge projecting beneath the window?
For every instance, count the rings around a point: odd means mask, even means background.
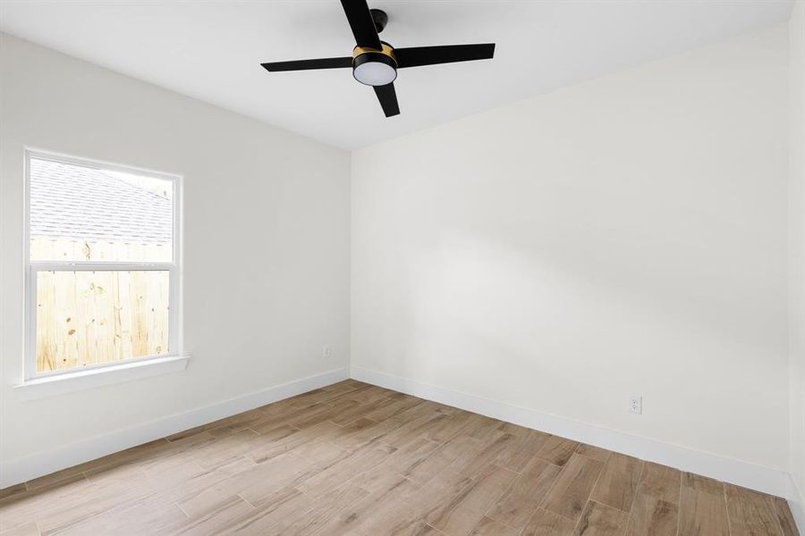
[[[190,356],[165,356],[115,364],[102,368],[64,373],[57,376],[37,378],[23,381],[14,386],[14,392],[20,400],[36,400],[38,398],[55,397],[77,390],[92,389],[124,381],[140,380],[167,373],[178,373],[187,368]]]

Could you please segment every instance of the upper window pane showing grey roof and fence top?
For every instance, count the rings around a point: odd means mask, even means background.
[[[174,183],[30,158],[30,259],[170,262]]]

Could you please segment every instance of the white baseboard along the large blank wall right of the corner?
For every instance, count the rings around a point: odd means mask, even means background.
[[[702,474],[716,480],[730,482],[777,497],[791,498],[789,490],[791,477],[789,473],[777,469],[753,465],[733,458],[717,456],[694,448],[681,447],[623,431],[610,430],[594,424],[581,423],[491,398],[478,397],[420,383],[419,381],[393,374],[378,373],[360,366],[353,365],[350,375],[355,380],[366,381],[379,387],[401,391],[414,397],[426,398],[508,423],[546,431],[547,433],[582,441],[596,447],[608,448],[616,452],[656,462],[657,464],[669,465],[682,471]],[[800,528],[800,532],[805,534],[802,528]]]

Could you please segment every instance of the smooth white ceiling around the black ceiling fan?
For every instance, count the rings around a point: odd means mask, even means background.
[[[394,46],[495,42],[495,59],[401,70],[386,119],[349,69],[261,62],[350,55],[338,0],[0,0],[0,29],[336,147],[362,147],[786,21],[792,0],[375,0]]]

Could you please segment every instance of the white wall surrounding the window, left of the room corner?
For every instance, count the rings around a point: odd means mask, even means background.
[[[347,365],[346,152],[17,38],[0,39],[5,466]],[[184,342],[192,355],[186,371],[30,402],[13,392],[22,379],[25,146],[184,176]],[[331,357],[322,358],[322,345],[332,347]]]

